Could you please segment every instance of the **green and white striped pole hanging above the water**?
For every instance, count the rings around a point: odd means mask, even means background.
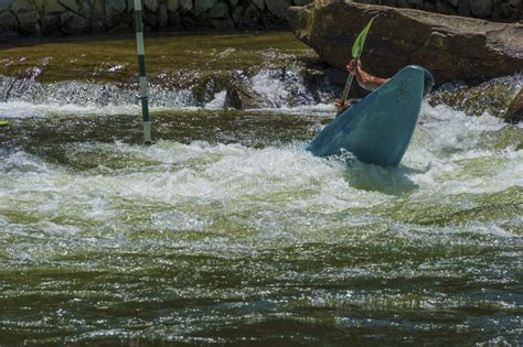
[[[140,69],[140,99],[143,121],[145,144],[151,144],[151,119],[149,117],[149,97],[147,93],[146,45],[143,44],[143,22],[141,0],[135,0],[136,43],[138,50],[138,68]]]

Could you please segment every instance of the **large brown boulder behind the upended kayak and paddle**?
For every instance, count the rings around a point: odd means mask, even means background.
[[[522,24],[337,0],[292,7],[288,13],[296,36],[339,69],[345,68],[355,37],[374,15],[363,63],[376,75],[392,76],[418,64],[435,74],[437,84],[477,84],[523,71]]]

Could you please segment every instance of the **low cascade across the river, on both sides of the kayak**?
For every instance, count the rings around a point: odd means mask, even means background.
[[[224,58],[230,51],[222,52]],[[332,104],[341,95],[344,73],[300,61],[274,50],[259,52],[264,63],[228,71],[175,71],[151,76],[153,108],[288,109]],[[24,102],[55,107],[129,107],[138,105],[136,82],[61,80],[39,78],[47,61],[23,69],[18,77],[0,76],[0,102]],[[119,68],[114,66],[113,68]],[[448,105],[467,115],[488,112],[502,117],[523,86],[521,75],[505,76],[469,87],[453,83],[441,86],[427,98],[431,106]],[[354,87],[354,93],[361,93]],[[7,115],[9,117],[9,115]]]

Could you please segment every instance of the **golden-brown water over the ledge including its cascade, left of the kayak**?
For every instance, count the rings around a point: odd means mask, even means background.
[[[148,48],[153,107],[330,104],[345,77],[290,32],[158,35],[148,40]],[[136,64],[131,36],[60,39],[1,50],[0,102],[134,104]]]

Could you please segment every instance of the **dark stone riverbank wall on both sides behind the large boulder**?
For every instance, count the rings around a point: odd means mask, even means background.
[[[151,0],[143,1],[147,32],[202,29],[245,30],[287,28],[287,11],[311,0]],[[521,22],[521,0],[414,1],[359,0],[490,21]],[[67,36],[130,33],[132,1],[3,0],[1,36]]]

